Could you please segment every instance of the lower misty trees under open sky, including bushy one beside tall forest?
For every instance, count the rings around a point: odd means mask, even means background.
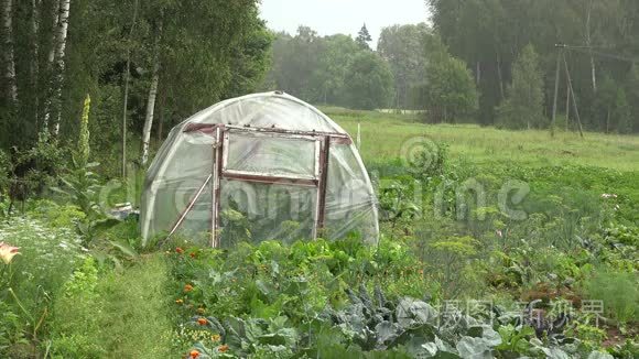
[[[307,26],[278,33],[267,87],[313,104],[355,109],[429,110],[433,121],[454,121],[477,108],[465,63],[452,56],[425,23],[385,28],[370,47],[366,25],[357,37],[318,36]]]

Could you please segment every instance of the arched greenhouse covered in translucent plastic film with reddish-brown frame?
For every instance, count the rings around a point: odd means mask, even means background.
[[[377,200],[338,124],[283,93],[229,99],[171,131],[149,168],[145,240],[201,244],[361,236],[376,243]]]

